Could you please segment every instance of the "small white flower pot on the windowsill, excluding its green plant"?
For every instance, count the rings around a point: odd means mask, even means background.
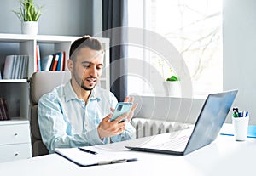
[[[180,82],[163,82],[164,88],[166,91],[166,96],[174,96],[180,97],[181,96],[181,87]]]

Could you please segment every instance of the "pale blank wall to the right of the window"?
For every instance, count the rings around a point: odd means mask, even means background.
[[[256,1],[224,0],[224,90],[238,88],[234,106],[256,124]],[[231,117],[228,116],[228,122]]]

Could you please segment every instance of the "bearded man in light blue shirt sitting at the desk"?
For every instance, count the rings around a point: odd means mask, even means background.
[[[49,153],[56,147],[102,145],[135,138],[131,111],[110,122],[117,99],[96,83],[102,75],[102,43],[84,36],[70,48],[67,67],[71,80],[44,94],[38,102],[38,124]],[[133,99],[126,97],[125,101]],[[120,122],[127,117],[126,122]]]

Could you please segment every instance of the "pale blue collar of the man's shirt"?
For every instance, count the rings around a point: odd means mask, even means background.
[[[72,99],[79,99],[77,94],[74,92],[74,90],[72,88],[71,80],[65,84],[64,93],[66,95],[66,102],[69,101],[69,100],[72,100]],[[97,100],[97,101],[101,100],[101,97],[100,97],[100,94],[99,94],[99,89],[98,89],[97,86],[91,90],[91,94],[90,94],[89,99],[90,100]]]

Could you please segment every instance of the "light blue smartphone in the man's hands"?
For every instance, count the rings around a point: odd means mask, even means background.
[[[113,111],[113,116],[110,119],[110,121],[114,121],[119,116],[122,116],[123,114],[131,111],[133,103],[131,102],[119,102],[118,105],[115,106],[115,109]],[[122,119],[120,122],[124,122],[126,119]]]

